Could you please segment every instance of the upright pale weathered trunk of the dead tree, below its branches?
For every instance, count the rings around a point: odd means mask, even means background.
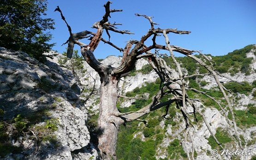
[[[103,78],[103,77],[101,77]],[[118,128],[124,121],[119,117],[114,116],[118,112],[116,102],[118,98],[118,81],[111,75],[107,81],[101,81],[100,88],[100,109],[98,118],[98,127],[100,133],[98,135],[98,148],[101,151],[103,160],[116,160],[116,142]]]

